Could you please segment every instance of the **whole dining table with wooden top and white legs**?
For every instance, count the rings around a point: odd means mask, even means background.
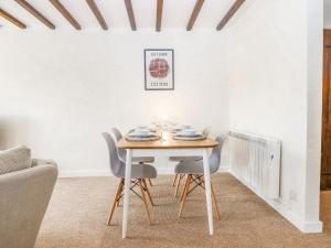
[[[124,214],[122,214],[122,238],[127,237],[128,233],[128,213],[129,213],[129,188],[131,182],[131,165],[134,157],[202,157],[203,172],[205,180],[205,197],[207,209],[209,234],[213,235],[213,209],[211,196],[211,176],[209,164],[209,151],[218,143],[211,139],[203,140],[178,140],[173,138],[173,133],[167,130],[159,131],[160,139],[154,141],[130,141],[122,138],[118,141],[118,148],[127,150],[126,157],[126,173],[125,173],[125,193],[124,193]]]

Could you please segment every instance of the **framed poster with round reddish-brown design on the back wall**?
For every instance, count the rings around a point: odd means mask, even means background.
[[[173,50],[145,50],[145,89],[174,89]]]

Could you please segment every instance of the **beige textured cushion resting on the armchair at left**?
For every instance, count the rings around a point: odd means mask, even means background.
[[[0,175],[31,168],[31,150],[20,145],[0,151]]]

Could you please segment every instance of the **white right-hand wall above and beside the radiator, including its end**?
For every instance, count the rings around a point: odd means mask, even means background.
[[[229,127],[282,140],[273,204],[303,231],[321,230],[322,15],[322,1],[248,0],[226,34]]]

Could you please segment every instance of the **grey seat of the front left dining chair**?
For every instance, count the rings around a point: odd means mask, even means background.
[[[150,164],[132,164],[131,179],[156,179],[157,175],[157,169]],[[120,166],[116,176],[126,177],[126,166]]]

